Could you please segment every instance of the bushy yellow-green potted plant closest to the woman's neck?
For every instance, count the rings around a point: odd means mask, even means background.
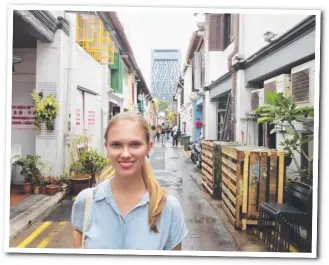
[[[94,149],[90,149],[84,152],[81,158],[86,172],[91,175],[90,186],[93,186],[97,176],[105,168],[107,164],[107,158]]]

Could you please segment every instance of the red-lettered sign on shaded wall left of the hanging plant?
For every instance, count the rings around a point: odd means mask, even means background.
[[[35,110],[33,106],[13,105],[11,124],[15,128],[34,128]]]

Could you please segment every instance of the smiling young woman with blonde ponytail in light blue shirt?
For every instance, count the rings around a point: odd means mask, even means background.
[[[115,169],[93,190],[85,248],[181,250],[187,235],[178,200],[157,182],[146,156],[150,132],[140,115],[116,115],[105,132],[108,158]],[[81,248],[87,191],[80,192],[72,208],[74,247]]]

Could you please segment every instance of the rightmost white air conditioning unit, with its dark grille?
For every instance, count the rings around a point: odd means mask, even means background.
[[[292,98],[298,105],[314,105],[314,60],[291,69]]]

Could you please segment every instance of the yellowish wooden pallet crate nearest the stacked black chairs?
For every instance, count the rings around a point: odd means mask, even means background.
[[[262,202],[283,201],[282,152],[227,146],[221,154],[223,209],[235,228],[257,225]]]

